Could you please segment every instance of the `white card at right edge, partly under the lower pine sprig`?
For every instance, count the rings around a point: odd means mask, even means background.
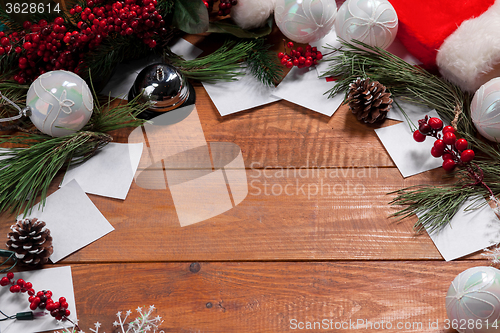
[[[429,232],[434,245],[446,261],[474,253],[500,242],[500,221],[483,198],[467,200],[440,230]],[[478,209],[467,209],[480,207]]]

